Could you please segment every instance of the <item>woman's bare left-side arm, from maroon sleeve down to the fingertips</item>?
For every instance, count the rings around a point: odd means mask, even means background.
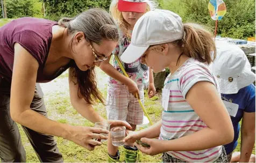
[[[38,67],[39,64],[35,58],[19,43],[16,43],[10,102],[13,121],[34,131],[66,138],[88,150],[94,150],[90,144],[101,145],[101,142],[93,140],[93,138],[106,139],[106,136],[95,133],[108,133],[107,130],[82,126],[74,127],[59,123],[30,109]]]

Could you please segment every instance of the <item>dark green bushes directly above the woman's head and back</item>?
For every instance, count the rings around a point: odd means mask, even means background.
[[[45,1],[45,8],[47,18],[57,21],[62,17],[75,17],[90,8],[102,8],[108,11],[110,3],[110,0]]]

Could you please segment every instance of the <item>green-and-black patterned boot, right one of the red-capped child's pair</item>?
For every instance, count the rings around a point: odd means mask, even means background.
[[[124,160],[125,162],[137,162],[139,161],[138,149],[136,146],[124,145]]]

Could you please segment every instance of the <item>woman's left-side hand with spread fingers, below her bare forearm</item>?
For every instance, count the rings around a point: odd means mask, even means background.
[[[95,146],[102,145],[102,142],[98,142],[97,139],[108,139],[108,136],[102,134],[109,133],[105,129],[84,126],[70,126],[69,132],[68,140],[85,147],[89,151],[94,150]]]

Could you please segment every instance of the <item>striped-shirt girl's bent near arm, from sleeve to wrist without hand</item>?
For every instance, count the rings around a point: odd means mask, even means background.
[[[232,142],[232,122],[214,84],[196,83],[188,91],[186,100],[208,127],[194,134],[169,140],[166,151],[199,151]]]

